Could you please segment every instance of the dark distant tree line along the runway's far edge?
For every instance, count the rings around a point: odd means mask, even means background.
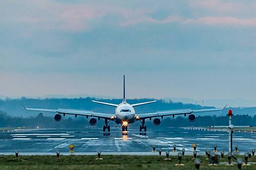
[[[102,128],[104,124],[103,119],[99,120],[97,125],[94,127]],[[256,126],[256,115],[235,115],[233,117],[234,125],[251,125]],[[112,127],[119,127],[116,123],[110,123]],[[138,128],[140,122],[131,124],[130,127]],[[148,127],[154,127],[153,121],[146,121]],[[227,116],[198,116],[196,121],[190,122],[187,117],[178,116],[175,119],[172,117],[166,117],[162,119],[159,127],[184,127],[184,126],[211,126],[211,125],[228,125]],[[84,129],[92,127],[88,123],[88,119],[85,117],[71,118],[65,117],[61,121],[56,122],[52,117],[44,116],[39,113],[34,117],[11,117],[8,116],[6,112],[0,111],[0,127],[25,127],[25,128],[74,128],[74,129]]]

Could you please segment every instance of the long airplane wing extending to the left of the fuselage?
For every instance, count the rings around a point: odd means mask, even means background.
[[[75,110],[75,109],[38,109],[38,108],[27,108],[23,105],[26,110],[29,111],[39,111],[39,112],[52,112],[52,113],[59,113],[63,115],[75,115],[75,116],[87,116],[87,117],[97,117],[103,119],[115,119],[114,114],[105,114],[105,113],[94,113],[93,111],[87,110]]]

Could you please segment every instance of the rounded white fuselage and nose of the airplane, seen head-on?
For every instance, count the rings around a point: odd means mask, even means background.
[[[127,123],[133,123],[135,121],[135,110],[133,106],[129,103],[120,103],[116,107],[116,122],[123,123],[124,121]]]

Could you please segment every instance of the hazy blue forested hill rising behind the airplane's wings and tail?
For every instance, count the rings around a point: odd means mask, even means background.
[[[36,112],[25,111],[21,104],[27,107],[36,107],[36,108],[49,108],[49,109],[58,109],[58,108],[68,108],[68,109],[82,109],[82,110],[91,110],[94,112],[101,113],[114,113],[115,109],[112,106],[102,105],[98,103],[91,102],[92,100],[99,100],[102,102],[110,103],[120,103],[121,99],[95,99],[95,98],[75,98],[75,99],[6,99],[0,100],[0,110],[6,112],[10,116],[15,117],[28,117],[28,116],[37,116]],[[138,102],[147,102],[154,99],[131,99],[127,100],[129,103],[138,103]],[[226,103],[223,103],[223,106]],[[181,102],[165,102],[163,100],[158,100],[155,103],[150,103],[146,105],[137,106],[137,113],[150,113],[161,110],[174,110],[174,109],[206,109],[214,108],[210,106],[196,105],[196,104],[184,104]],[[228,108],[227,108],[228,109]],[[212,112],[212,113],[201,113],[200,115],[225,115],[227,112],[225,109],[221,112]],[[256,114],[256,107],[244,107],[244,108],[232,108],[235,115],[245,115],[254,116]],[[44,113],[45,116],[51,116],[51,113]]]

